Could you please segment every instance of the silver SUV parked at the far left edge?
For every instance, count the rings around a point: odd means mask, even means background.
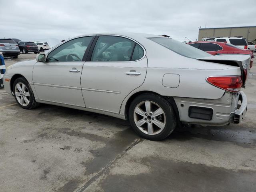
[[[10,56],[18,58],[20,54],[20,48],[13,39],[0,39],[0,52],[3,52],[4,56]]]

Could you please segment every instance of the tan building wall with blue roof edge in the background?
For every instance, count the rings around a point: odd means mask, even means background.
[[[233,28],[206,28],[199,29],[198,40],[206,37],[234,37],[242,36],[248,41],[256,41],[256,26],[233,27]]]

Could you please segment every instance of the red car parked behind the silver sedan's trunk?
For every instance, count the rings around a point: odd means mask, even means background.
[[[229,43],[224,42],[210,42],[210,41],[196,41],[188,43],[189,45],[208,52],[212,55],[218,54],[250,54],[251,61],[250,61],[250,68],[252,68],[252,58],[254,58],[253,50],[246,50],[240,47],[234,46]]]

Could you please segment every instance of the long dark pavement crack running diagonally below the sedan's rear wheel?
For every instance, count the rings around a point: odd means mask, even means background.
[[[120,153],[118,156],[116,156],[116,158],[114,158],[112,161],[110,161],[105,167],[103,167],[95,176],[93,176],[92,178],[90,178],[90,180],[88,180],[88,182],[86,182],[86,184],[84,184],[84,186],[82,186],[80,189],[77,190],[77,192],[82,192],[84,190],[86,190],[86,188],[88,188],[88,186],[90,186],[90,184],[92,184],[94,181],[96,181],[100,176],[102,176],[104,173],[106,173],[107,170],[110,170],[114,164],[124,156],[124,154],[126,154],[126,152],[128,152],[130,149],[132,149],[134,146],[136,146],[137,144],[139,144],[140,142],[144,141],[143,138],[138,138],[136,139],[134,142],[132,142],[122,153]]]

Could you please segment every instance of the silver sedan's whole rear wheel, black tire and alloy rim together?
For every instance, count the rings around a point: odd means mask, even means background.
[[[147,110],[146,105],[151,107]],[[163,140],[176,127],[176,114],[172,105],[157,94],[148,93],[136,97],[130,104],[128,116],[134,131],[149,140]]]

